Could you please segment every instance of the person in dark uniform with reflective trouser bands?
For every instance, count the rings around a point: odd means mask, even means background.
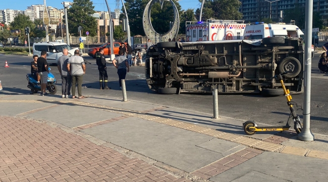
[[[96,56],[96,63],[98,65],[98,71],[99,71],[99,85],[100,89],[111,89],[107,86],[108,82],[108,76],[107,76],[107,68],[106,68],[106,60],[103,56],[103,49],[99,49],[99,53]],[[104,82],[105,87],[102,86],[102,80]]]

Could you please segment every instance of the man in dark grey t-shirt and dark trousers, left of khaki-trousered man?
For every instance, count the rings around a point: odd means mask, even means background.
[[[57,62],[58,71],[62,76],[62,98],[68,98],[71,95],[72,76],[67,69],[68,59],[68,49],[64,49],[63,56]]]

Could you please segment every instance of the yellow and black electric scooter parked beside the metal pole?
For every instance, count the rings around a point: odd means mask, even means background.
[[[243,123],[243,128],[244,131],[246,132],[246,134],[248,135],[253,135],[255,134],[257,131],[284,131],[284,130],[289,130],[289,128],[291,127],[289,125],[289,119],[292,117],[294,120],[294,129],[295,131],[298,133],[300,133],[302,131],[302,123],[300,120],[300,117],[296,114],[295,110],[294,110],[294,105],[297,107],[297,110],[299,109],[299,106],[297,105],[296,102],[291,102],[292,100],[292,96],[290,95],[289,89],[286,89],[285,84],[284,84],[284,80],[283,80],[283,75],[287,74],[288,72],[284,72],[284,73],[280,73],[279,75],[275,75],[274,77],[272,77],[271,79],[279,79],[280,83],[284,89],[284,94],[286,96],[287,99],[287,105],[289,106],[289,109],[291,111],[291,114],[287,120],[287,123],[285,126],[257,126],[255,121],[246,121]],[[302,108],[300,108],[301,110],[303,110]]]

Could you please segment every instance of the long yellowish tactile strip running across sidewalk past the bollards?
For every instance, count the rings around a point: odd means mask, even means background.
[[[41,101],[33,101],[33,100],[0,100],[0,102],[24,102],[24,103],[40,103]],[[231,142],[235,142],[238,144],[246,145],[249,147],[253,147],[255,149],[269,151],[269,152],[279,152],[279,153],[285,153],[285,154],[292,154],[292,155],[299,155],[299,156],[307,156],[307,157],[313,157],[313,158],[319,158],[319,159],[326,159],[328,160],[328,152],[322,152],[322,151],[316,151],[316,150],[309,150],[309,149],[303,149],[303,148],[296,148],[296,147],[290,147],[290,146],[283,146],[275,143],[260,141],[256,139],[251,139],[245,136],[240,136],[238,134],[232,134],[232,133],[226,133],[222,131],[217,131],[215,129],[198,126],[195,124],[190,124],[187,122],[181,122],[174,119],[164,118],[160,116],[153,116],[151,114],[142,113],[139,111],[133,111],[128,109],[121,109],[121,108],[114,108],[109,106],[101,106],[97,104],[90,104],[85,103],[82,101],[50,101],[50,102],[60,102],[60,103],[73,103],[80,106],[88,106],[88,107],[95,107],[96,109],[106,109],[105,111],[108,112],[116,112],[123,115],[129,115],[133,117],[139,117],[142,119],[167,124],[170,126],[179,127],[182,129],[190,130],[199,132],[202,134],[206,134],[209,136],[214,136],[218,139],[223,139]]]

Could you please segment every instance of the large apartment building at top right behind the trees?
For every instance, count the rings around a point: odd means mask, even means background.
[[[262,18],[270,18],[278,21],[280,11],[285,11],[295,8],[295,4],[305,6],[306,0],[240,0],[242,3],[240,12],[243,13],[245,21],[259,21]],[[271,11],[270,11],[271,9]],[[270,13],[271,12],[271,13]],[[319,12],[323,19],[328,18],[328,0],[313,0],[313,12]]]

